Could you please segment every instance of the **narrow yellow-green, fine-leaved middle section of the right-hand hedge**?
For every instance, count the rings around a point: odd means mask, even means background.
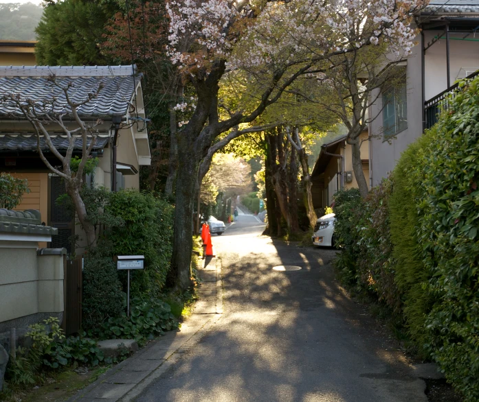
[[[394,191],[389,201],[395,282],[403,301],[405,325],[419,351],[425,343],[424,320],[430,309],[431,296],[427,292],[430,274],[422,261],[416,235],[419,220],[417,198],[423,191],[423,157],[434,137],[432,132],[423,135],[401,154],[392,175]]]

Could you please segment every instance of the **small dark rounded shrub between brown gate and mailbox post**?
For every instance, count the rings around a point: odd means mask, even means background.
[[[95,328],[124,310],[122,285],[109,251],[98,246],[85,255],[82,297],[85,329]]]

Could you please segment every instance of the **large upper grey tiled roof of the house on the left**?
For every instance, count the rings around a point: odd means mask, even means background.
[[[48,80],[54,73],[56,83]],[[98,97],[78,107],[81,117],[111,117],[126,115],[129,102],[133,96],[134,86],[140,76],[133,77],[131,66],[118,67],[0,67],[1,95],[19,95],[23,100],[29,99],[38,104],[39,111],[48,113],[70,112],[63,89],[59,86],[71,84],[69,97],[79,103],[88,99],[90,93],[103,88]],[[0,100],[0,117],[21,118],[21,111],[10,102]]]

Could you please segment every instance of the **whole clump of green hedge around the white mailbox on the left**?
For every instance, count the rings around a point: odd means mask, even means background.
[[[94,329],[124,310],[126,272],[115,255],[144,255],[144,270],[131,272],[131,297],[161,297],[170,269],[173,206],[149,193],[107,189],[82,191],[89,219],[102,227],[98,245],[87,250],[83,275],[83,327]]]

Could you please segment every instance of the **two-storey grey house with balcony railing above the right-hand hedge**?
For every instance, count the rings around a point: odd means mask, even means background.
[[[377,90],[370,116],[370,185],[394,169],[403,150],[434,125],[455,82],[479,69],[479,0],[431,0],[414,16],[421,29],[412,56],[401,63],[401,88]]]

